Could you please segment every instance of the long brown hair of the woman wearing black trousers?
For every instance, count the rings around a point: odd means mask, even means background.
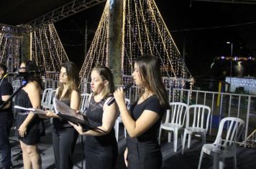
[[[68,84],[69,84],[68,91],[65,93],[62,100],[70,100],[70,95],[72,90],[79,91],[78,84],[80,80],[79,80],[78,66],[75,63],[68,61],[60,64],[60,67],[64,67],[66,69],[67,76],[68,76]],[[64,90],[64,84],[60,83],[60,88],[58,90],[58,95],[57,95],[58,99],[60,99],[63,93],[63,90]]]

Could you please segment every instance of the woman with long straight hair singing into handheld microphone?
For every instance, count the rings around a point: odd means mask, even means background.
[[[124,160],[128,168],[161,168],[162,153],[157,143],[157,130],[170,106],[160,75],[160,63],[150,55],[139,57],[134,62],[132,77],[140,89],[140,98],[130,110],[125,105],[122,87],[114,92],[122,122],[129,134]]]

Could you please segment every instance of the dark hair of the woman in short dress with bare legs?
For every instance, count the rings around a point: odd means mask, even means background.
[[[27,75],[24,77],[24,79],[27,82],[37,82],[42,89],[42,79],[41,75],[38,74],[39,68],[37,67],[37,64],[31,60],[23,61],[22,63],[25,64],[27,72]]]

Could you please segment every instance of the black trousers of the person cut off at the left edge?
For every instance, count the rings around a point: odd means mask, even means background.
[[[10,117],[9,115],[0,115],[0,153],[2,168],[9,168],[12,166],[11,146],[9,142],[12,121],[13,117]]]

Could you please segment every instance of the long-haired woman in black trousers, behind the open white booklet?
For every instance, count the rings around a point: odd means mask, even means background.
[[[56,90],[55,97],[79,110],[80,94],[78,92],[79,71],[73,62],[64,62],[60,69],[60,87]],[[73,168],[73,151],[78,138],[78,132],[55,112],[47,111],[47,117],[53,117],[52,143],[57,169]]]

